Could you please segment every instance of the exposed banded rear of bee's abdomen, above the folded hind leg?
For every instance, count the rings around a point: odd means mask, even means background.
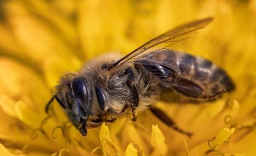
[[[205,95],[215,95],[235,89],[235,85],[227,73],[210,60],[187,53],[177,53],[176,59],[181,77],[205,86],[203,88]]]

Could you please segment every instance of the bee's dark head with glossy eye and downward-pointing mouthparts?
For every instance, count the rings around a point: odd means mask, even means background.
[[[87,135],[86,123],[91,113],[92,91],[84,77],[77,77],[71,82],[71,90],[66,93],[65,112],[69,120],[83,136]]]

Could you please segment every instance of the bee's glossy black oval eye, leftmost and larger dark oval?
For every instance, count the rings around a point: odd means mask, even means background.
[[[84,77],[75,78],[71,86],[76,99],[81,102],[88,102],[91,99],[90,85]]]

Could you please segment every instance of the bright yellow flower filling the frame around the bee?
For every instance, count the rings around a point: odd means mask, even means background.
[[[58,78],[84,61],[123,55],[173,26],[202,17],[189,53],[212,60],[237,89],[203,104],[156,104],[179,134],[145,111],[89,129],[67,122],[56,102],[44,107]],[[0,156],[9,155],[256,155],[256,1],[0,2]],[[150,33],[149,33],[150,32]]]

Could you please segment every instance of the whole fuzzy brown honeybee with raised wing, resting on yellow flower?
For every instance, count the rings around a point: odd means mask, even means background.
[[[197,31],[208,25],[208,17],[174,27],[150,40],[124,57],[118,54],[99,56],[77,73],[66,73],[56,86],[56,94],[45,107],[48,112],[54,99],[83,136],[87,129],[114,122],[119,116],[149,109],[170,128],[191,136],[154,104],[164,92],[176,92],[196,101],[214,100],[235,89],[227,73],[210,60],[179,52],[187,47]],[[169,99],[172,100],[172,99]]]

